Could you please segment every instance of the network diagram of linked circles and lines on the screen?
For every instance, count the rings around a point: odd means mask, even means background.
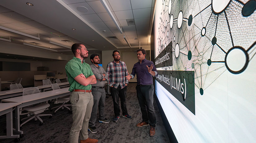
[[[163,0],[157,55],[172,42],[170,70],[195,71],[203,95],[224,71],[241,74],[256,54],[255,0]]]

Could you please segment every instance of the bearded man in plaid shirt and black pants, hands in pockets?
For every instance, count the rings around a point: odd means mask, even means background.
[[[114,61],[108,63],[106,73],[108,74],[108,84],[110,86],[110,92],[114,103],[114,122],[117,122],[120,115],[119,97],[121,100],[121,109],[123,117],[131,119],[126,108],[126,90],[128,80],[125,76],[128,76],[127,67],[124,62],[120,61],[119,51],[115,50],[112,54]]]

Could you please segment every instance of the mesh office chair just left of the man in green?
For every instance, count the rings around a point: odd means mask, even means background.
[[[52,90],[56,90],[56,89],[61,89],[59,87],[59,85],[56,83],[56,84],[51,84],[51,87],[52,87]],[[58,111],[60,108],[61,109],[64,109],[64,108],[67,108],[70,110],[70,108],[68,108],[67,106],[71,106],[71,104],[65,104],[67,102],[69,102],[70,100],[70,96],[64,96],[64,97],[60,97],[60,98],[57,98],[56,101],[54,102],[54,104],[58,104],[58,103],[62,103],[60,106],[57,106],[57,107],[53,107],[52,109],[54,108],[57,108],[55,111],[54,111],[54,114],[56,113],[56,111]],[[51,111],[52,111],[51,109]]]

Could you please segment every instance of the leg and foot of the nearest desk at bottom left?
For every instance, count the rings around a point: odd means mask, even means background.
[[[0,136],[0,139],[4,138],[19,138],[20,135],[13,135],[13,125],[12,125],[12,108],[7,110],[6,113],[6,136]]]

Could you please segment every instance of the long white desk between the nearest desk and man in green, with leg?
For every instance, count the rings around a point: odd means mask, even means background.
[[[40,93],[26,95],[26,96],[18,96],[18,97],[3,99],[2,102],[8,102],[8,103],[20,102],[21,103],[15,109],[15,117],[16,117],[15,126],[16,126],[16,132],[23,134],[23,131],[20,130],[20,108],[70,95],[70,91],[68,90],[69,88],[61,88],[61,89],[51,90],[47,92],[40,92]]]

